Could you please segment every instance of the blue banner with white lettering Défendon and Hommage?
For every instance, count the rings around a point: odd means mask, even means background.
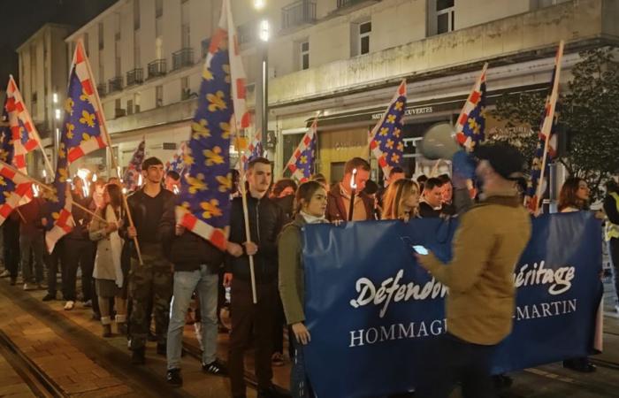
[[[405,392],[424,368],[420,353],[446,332],[443,287],[416,264],[410,244],[451,257],[456,221],[368,221],[304,228],[305,349],[320,398]],[[589,212],[533,219],[514,272],[514,329],[495,373],[592,352],[602,285],[600,220]]]

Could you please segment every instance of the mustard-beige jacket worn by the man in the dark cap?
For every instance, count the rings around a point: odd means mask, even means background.
[[[432,254],[423,260],[449,287],[447,330],[463,341],[494,345],[511,332],[514,268],[531,238],[531,217],[521,203],[512,192],[489,195],[462,216],[449,264]]]

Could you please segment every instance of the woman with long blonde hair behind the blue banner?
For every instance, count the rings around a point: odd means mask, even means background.
[[[419,186],[413,180],[396,180],[386,189],[383,197],[382,219],[401,219],[419,217]]]

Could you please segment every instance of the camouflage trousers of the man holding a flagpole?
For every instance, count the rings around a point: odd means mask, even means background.
[[[133,306],[129,319],[132,350],[146,345],[150,327],[150,302],[155,318],[157,343],[165,344],[170,322],[172,264],[165,259],[163,251],[158,247],[141,248],[141,258],[144,264],[140,264],[137,258],[131,258],[129,272],[129,293]]]

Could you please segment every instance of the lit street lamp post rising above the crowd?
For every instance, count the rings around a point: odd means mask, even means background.
[[[256,11],[263,11],[266,6],[266,0],[254,0],[254,8]],[[260,123],[258,126],[262,129],[263,148],[266,149],[266,138],[269,130],[269,38],[271,35],[271,26],[267,19],[262,19],[258,27],[258,37],[260,38],[260,100],[256,101],[256,115],[260,115]],[[258,107],[257,105],[260,105]]]

